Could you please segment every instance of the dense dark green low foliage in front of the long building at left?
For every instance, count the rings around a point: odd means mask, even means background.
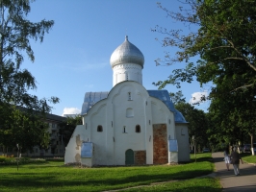
[[[28,113],[22,108],[13,106],[0,107],[0,111],[6,112],[1,122],[0,145],[14,148],[19,144],[22,152],[32,151],[33,146],[48,148],[48,126],[44,123],[44,116],[37,113]]]

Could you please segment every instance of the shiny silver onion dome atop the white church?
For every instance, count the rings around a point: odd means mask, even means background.
[[[143,68],[144,56],[134,44],[129,42],[128,36],[125,36],[125,40],[120,44],[111,56],[112,68],[117,64],[122,63],[135,63],[140,64]]]

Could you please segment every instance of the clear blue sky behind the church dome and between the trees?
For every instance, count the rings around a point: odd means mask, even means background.
[[[37,0],[32,3],[28,15],[31,21],[55,21],[42,43],[31,42],[35,62],[25,60],[22,65],[38,82],[38,89],[33,94],[39,98],[59,97],[61,102],[53,106],[53,114],[79,112],[86,92],[111,90],[110,57],[126,35],[144,55],[143,86],[157,89],[153,82],[166,80],[173,69],[185,64],[156,66],[154,60],[164,58],[165,51],[174,54],[174,50],[162,47],[155,38],[164,36],[151,32],[151,29],[159,25],[169,30],[187,30],[184,25],[166,17],[157,2],[172,11],[183,6],[177,0]],[[165,89],[179,90],[173,85],[167,85]],[[202,92],[204,88],[193,82],[182,84],[181,90],[190,102],[192,94]],[[202,104],[196,108],[206,110],[208,106]]]

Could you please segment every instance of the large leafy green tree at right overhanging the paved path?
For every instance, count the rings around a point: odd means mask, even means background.
[[[194,76],[201,85],[213,83],[209,99],[212,110],[218,108],[213,116],[220,122],[220,128],[233,133],[243,129],[251,135],[252,142],[254,118],[248,119],[243,114],[255,113],[255,2],[190,0],[186,3],[190,9],[184,7],[181,12],[169,12],[159,4],[168,16],[188,24],[194,31],[183,34],[181,30],[167,31],[158,26],[154,29],[166,35],[164,46],[178,48],[174,57],[167,55],[167,60],[156,60],[157,64],[187,62],[184,69],[175,69],[168,80],[156,85],[180,87],[181,82],[191,83]],[[198,56],[198,60],[192,61]]]

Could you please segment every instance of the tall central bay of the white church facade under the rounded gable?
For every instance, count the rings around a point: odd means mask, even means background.
[[[128,92],[131,93],[132,100],[128,100]],[[125,152],[128,149],[133,151],[146,150],[145,134],[148,127],[145,122],[144,108],[148,93],[141,84],[125,82],[117,84],[111,96],[114,111],[114,158],[115,164],[121,165],[125,164]],[[126,117],[127,108],[133,109],[133,117]],[[141,132],[136,132],[136,125],[141,126]]]

